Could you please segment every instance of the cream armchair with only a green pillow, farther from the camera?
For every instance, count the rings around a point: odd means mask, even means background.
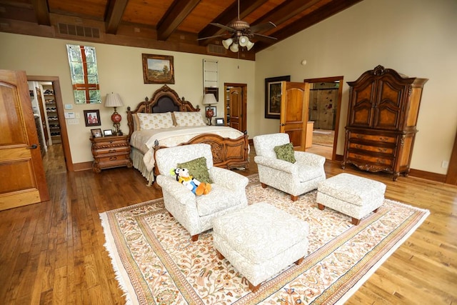
[[[275,147],[287,146],[288,143],[288,134],[254,136],[254,162],[263,188],[272,186],[290,194],[292,201],[296,201],[299,195],[317,189],[318,182],[326,179],[323,169],[326,159],[305,151],[291,151],[295,163],[278,159]]]

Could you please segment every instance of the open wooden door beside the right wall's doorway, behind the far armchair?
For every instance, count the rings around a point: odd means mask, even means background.
[[[309,83],[281,81],[281,87],[279,131],[288,134],[294,149],[305,151]]]

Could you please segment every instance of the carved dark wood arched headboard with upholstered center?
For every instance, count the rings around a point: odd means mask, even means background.
[[[169,111],[200,111],[200,107],[197,105],[195,108],[191,102],[186,101],[184,97],[180,99],[176,91],[169,86],[164,85],[154,92],[151,99],[148,99],[146,96],[146,99],[141,101],[134,111],[131,111],[130,106],[127,107],[129,138],[134,132],[134,114],[156,114]]]

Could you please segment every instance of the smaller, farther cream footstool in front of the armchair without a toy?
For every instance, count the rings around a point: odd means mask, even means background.
[[[352,174],[338,174],[319,182],[316,201],[318,208],[326,206],[352,217],[352,224],[377,212],[383,204],[386,184]]]

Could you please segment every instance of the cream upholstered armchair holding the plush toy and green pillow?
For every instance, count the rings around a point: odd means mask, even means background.
[[[196,196],[171,176],[171,169],[204,156],[209,178],[213,182],[209,194]],[[191,234],[192,241],[199,234],[212,228],[211,221],[229,211],[248,205],[246,185],[248,179],[234,171],[213,166],[209,144],[191,144],[167,147],[156,151],[156,166],[159,169],[157,184],[164,193],[165,208]],[[184,167],[184,166],[183,166]]]

